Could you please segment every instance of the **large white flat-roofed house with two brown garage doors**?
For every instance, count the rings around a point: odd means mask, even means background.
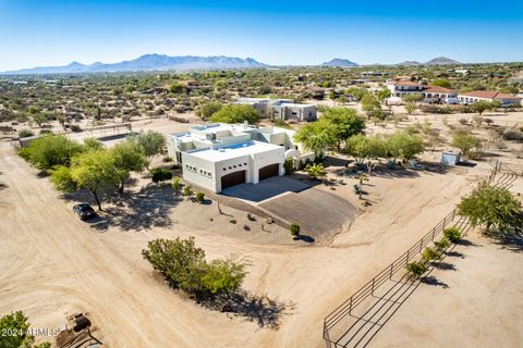
[[[314,160],[293,140],[295,132],[279,127],[211,123],[171,134],[168,152],[182,166],[183,178],[211,191],[283,175],[283,163]]]

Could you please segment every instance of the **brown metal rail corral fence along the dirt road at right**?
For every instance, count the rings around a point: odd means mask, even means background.
[[[492,170],[488,177],[489,183],[494,183],[498,187],[510,187],[512,183],[523,176],[523,165],[504,163],[496,161],[492,163]],[[458,221],[455,221],[458,219]],[[454,222],[455,221],[455,222]],[[458,210],[453,209],[447,216],[445,216],[430,232],[428,232],[422,239],[416,241],[406,252],[396,259],[386,269],[379,272],[375,277],[367,282],[362,288],[354,293],[337,309],[330,312],[324,320],[324,340],[327,348],[345,347],[340,345],[339,340],[331,338],[329,332],[335,328],[345,316],[352,315],[352,311],[369,296],[374,296],[378,287],[392,279],[393,275],[399,271],[405,270],[408,263],[413,259],[419,257],[425,247],[439,239],[446,227],[459,227],[464,236],[471,228],[469,219],[459,215]]]

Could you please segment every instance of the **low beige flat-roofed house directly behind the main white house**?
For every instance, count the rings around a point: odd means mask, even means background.
[[[282,121],[315,121],[316,105],[296,104],[292,99],[240,98],[236,103],[252,105],[262,119]]]

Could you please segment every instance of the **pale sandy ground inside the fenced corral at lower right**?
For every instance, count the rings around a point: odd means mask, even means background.
[[[435,270],[376,336],[373,347],[521,347],[522,254],[472,233],[453,270]],[[485,276],[488,274],[488,276]]]

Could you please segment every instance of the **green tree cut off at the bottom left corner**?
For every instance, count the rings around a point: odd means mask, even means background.
[[[28,318],[22,311],[0,318],[1,348],[51,348],[50,343],[35,345],[35,336],[31,334]]]

